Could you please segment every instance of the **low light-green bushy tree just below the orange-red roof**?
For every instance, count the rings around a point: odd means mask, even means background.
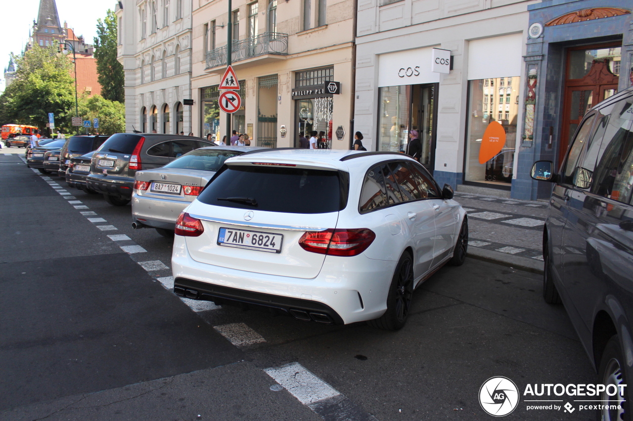
[[[99,131],[102,135],[113,135],[125,132],[125,106],[118,101],[99,95],[83,97],[79,102],[79,115],[84,120],[99,119],[99,128],[91,129],[92,133]]]

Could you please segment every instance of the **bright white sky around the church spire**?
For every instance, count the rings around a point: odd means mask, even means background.
[[[115,0],[55,0],[60,23],[64,21],[75,34],[84,35],[88,44],[97,35],[97,19],[103,19],[108,9],[115,9]],[[20,54],[27,45],[28,31],[37,20],[40,0],[3,1],[2,13],[11,18],[4,19],[0,32],[0,92],[4,91],[4,68],[9,64],[9,54]]]

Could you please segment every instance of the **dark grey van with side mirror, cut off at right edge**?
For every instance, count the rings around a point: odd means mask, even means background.
[[[633,379],[633,88],[584,116],[555,171],[537,161],[534,180],[553,183],[543,231],[543,296],[563,302],[598,383]],[[623,409],[598,419],[630,420],[633,392],[615,387],[599,399]],[[623,389],[624,392],[623,392]]]

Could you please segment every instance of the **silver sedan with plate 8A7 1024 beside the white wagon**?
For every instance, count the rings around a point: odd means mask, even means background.
[[[137,171],[132,193],[132,226],[173,235],[180,212],[202,191],[224,162],[262,147],[215,146],[192,150],[161,168]]]

